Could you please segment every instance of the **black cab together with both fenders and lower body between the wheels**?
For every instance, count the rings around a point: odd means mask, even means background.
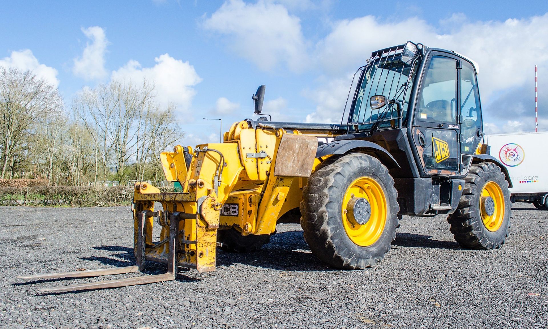
[[[345,152],[372,154],[387,166],[401,213],[453,213],[479,161],[496,164],[507,178],[496,159],[475,154],[483,135],[476,75],[467,57],[413,42],[374,51],[355,73],[341,122],[347,134],[335,142],[352,143]]]

